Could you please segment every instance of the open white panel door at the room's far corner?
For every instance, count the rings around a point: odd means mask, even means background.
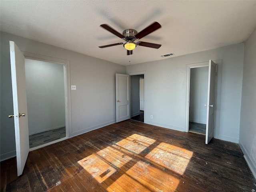
[[[116,122],[130,119],[130,75],[116,74]]]

